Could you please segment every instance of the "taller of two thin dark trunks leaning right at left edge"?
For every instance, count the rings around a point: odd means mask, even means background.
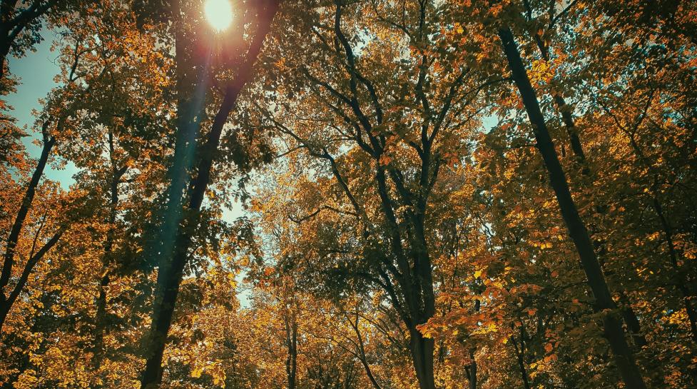
[[[9,312],[12,303],[14,303],[14,300],[11,301],[9,297],[9,295],[11,295],[13,292],[6,291],[6,288],[12,275],[15,249],[17,247],[17,242],[19,241],[19,234],[21,233],[22,227],[24,227],[24,221],[29,213],[29,208],[31,208],[31,202],[34,201],[36,187],[39,186],[41,176],[44,175],[44,168],[46,168],[46,163],[49,161],[51,148],[53,148],[54,144],[56,144],[56,139],[47,135],[48,126],[49,122],[46,121],[43,128],[44,147],[41,149],[39,163],[36,164],[34,173],[31,175],[31,180],[26,188],[24,198],[22,198],[19,211],[17,211],[17,216],[14,219],[14,223],[12,224],[12,228],[10,229],[9,236],[7,237],[7,243],[5,245],[2,271],[0,273],[0,332],[2,331],[2,325],[4,324],[7,312]]]

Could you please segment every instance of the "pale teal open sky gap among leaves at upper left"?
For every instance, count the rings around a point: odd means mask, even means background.
[[[54,37],[48,31],[42,31],[44,41],[34,46],[36,51],[27,52],[22,58],[9,57],[9,69],[13,76],[19,78],[19,85],[15,93],[6,96],[7,103],[14,108],[11,115],[17,118],[17,125],[20,127],[26,126],[30,136],[23,139],[29,155],[38,157],[41,154],[41,147],[36,146],[32,141],[40,139],[41,133],[33,131],[34,116],[31,112],[39,110],[39,98],[44,98],[51,91],[51,88],[58,86],[54,82],[54,76],[58,74],[60,69],[56,65],[58,52],[51,52],[51,42]],[[61,183],[63,188],[68,188],[73,180],[73,174],[77,173],[78,169],[68,163],[65,168],[56,169],[55,166],[47,166],[45,175],[54,181]]]

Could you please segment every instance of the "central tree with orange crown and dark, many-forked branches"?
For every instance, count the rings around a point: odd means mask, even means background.
[[[285,136],[302,177],[290,217],[317,231],[306,238],[316,253],[308,260],[325,263],[310,278],[381,288],[409,331],[420,387],[434,388],[434,344],[418,330],[435,313],[430,201],[441,169],[466,150],[460,140],[477,123],[482,85],[500,79],[465,66],[462,56],[475,54],[449,49],[439,31],[454,21],[444,7],[338,2],[309,19],[297,21],[312,34],[306,54],[279,64],[287,70],[278,84],[300,98],[274,96],[275,110],[262,108],[260,120]]]

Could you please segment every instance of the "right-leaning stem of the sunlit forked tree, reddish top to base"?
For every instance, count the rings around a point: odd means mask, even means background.
[[[259,28],[255,35],[247,57],[237,69],[235,80],[225,91],[223,103],[220,105],[218,113],[215,114],[213,125],[208,133],[208,138],[200,150],[200,160],[198,161],[197,176],[191,181],[188,190],[188,217],[183,221],[183,226],[179,228],[178,223],[174,225],[176,233],[173,243],[172,255],[168,256],[168,250],[163,250],[158,271],[158,283],[156,289],[155,303],[153,305],[153,320],[151,323],[150,334],[146,345],[146,367],[141,376],[141,389],[157,388],[162,380],[162,357],[165,350],[167,334],[171,327],[174,307],[179,293],[179,286],[183,277],[183,270],[186,264],[187,254],[197,225],[201,203],[205,195],[205,188],[210,181],[210,170],[213,166],[213,158],[218,151],[220,135],[223,126],[228,119],[230,111],[235,106],[235,102],[243,87],[252,75],[252,66],[261,51],[263,41],[270,29],[271,21],[278,9],[278,0],[268,1],[264,9],[260,9]],[[176,156],[175,156],[176,158]],[[173,172],[174,174],[184,175],[185,172]],[[178,196],[178,193],[171,193]],[[181,210],[177,209],[180,213]]]

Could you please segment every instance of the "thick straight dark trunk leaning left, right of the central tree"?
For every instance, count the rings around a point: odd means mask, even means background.
[[[559,156],[557,156],[554,143],[551,140],[551,136],[549,136],[539,101],[530,84],[513,33],[507,27],[500,29],[499,38],[502,41],[504,54],[508,60],[514,82],[533,128],[537,148],[549,173],[549,181],[559,203],[561,216],[564,218],[566,228],[569,230],[569,236],[574,241],[576,250],[579,253],[581,266],[584,268],[589,287],[594,296],[594,309],[599,311],[614,310],[616,305],[612,300],[603,271],[593,250],[589,233],[581,220],[581,216],[579,216],[579,211],[573,198],[571,198],[566,174],[563,168],[561,168],[561,163],[559,163]],[[624,338],[621,320],[616,318],[614,313],[606,312],[603,315],[603,325],[605,338],[609,342],[615,363],[619,368],[626,387],[629,389],[645,389],[646,384],[641,377],[641,371],[636,365],[634,354]]]

